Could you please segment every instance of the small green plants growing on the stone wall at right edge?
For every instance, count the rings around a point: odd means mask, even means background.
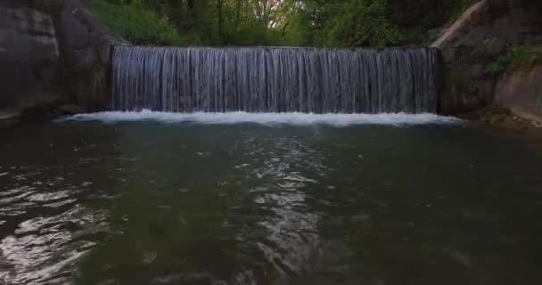
[[[542,63],[542,47],[534,45],[514,45],[496,61],[486,66],[486,71],[493,75],[504,73],[508,69],[531,66]]]

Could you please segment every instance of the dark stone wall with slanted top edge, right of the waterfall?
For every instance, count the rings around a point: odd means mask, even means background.
[[[542,1],[480,0],[433,46],[442,51],[440,112],[455,114],[491,104],[497,77],[487,71],[510,45],[542,43]]]

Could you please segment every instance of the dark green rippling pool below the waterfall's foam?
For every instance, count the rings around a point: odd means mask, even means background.
[[[540,284],[542,152],[464,126],[0,135],[2,284]]]

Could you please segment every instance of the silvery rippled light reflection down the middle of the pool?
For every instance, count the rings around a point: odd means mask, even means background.
[[[309,272],[319,255],[319,235],[318,216],[308,212],[305,205],[305,188],[318,181],[300,170],[323,163],[321,156],[314,156],[310,147],[296,140],[276,140],[275,147],[270,158],[253,171],[269,183],[255,191],[259,195],[254,203],[274,213],[259,222],[267,229],[267,236],[257,242],[257,247],[279,275]]]

